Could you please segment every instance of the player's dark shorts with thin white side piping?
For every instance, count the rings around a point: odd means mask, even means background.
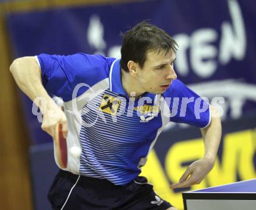
[[[147,183],[138,176],[125,186],[117,186],[105,179],[77,176],[59,171],[48,193],[52,209],[157,209],[165,210],[172,205],[163,201]]]

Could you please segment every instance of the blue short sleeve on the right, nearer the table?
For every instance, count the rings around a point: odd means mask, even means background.
[[[169,107],[170,121],[206,128],[211,122],[208,99],[200,97],[179,79],[163,93],[165,103]]]

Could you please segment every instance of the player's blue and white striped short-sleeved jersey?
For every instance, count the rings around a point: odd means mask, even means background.
[[[209,104],[179,79],[162,95],[135,98],[123,89],[117,59],[84,53],[36,57],[45,89],[64,101],[67,149],[81,148],[80,157],[68,155],[66,170],[74,174],[125,185],[140,174],[168,122],[209,125]]]

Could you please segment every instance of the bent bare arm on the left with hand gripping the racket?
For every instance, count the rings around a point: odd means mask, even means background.
[[[10,65],[10,72],[19,88],[40,108],[44,116],[42,129],[49,135],[54,136],[55,125],[60,122],[63,127],[63,135],[66,136],[67,123],[65,114],[42,85],[41,68],[38,66],[36,58],[20,57],[15,59]],[[40,100],[35,100],[37,97],[43,97],[47,103],[42,104]]]

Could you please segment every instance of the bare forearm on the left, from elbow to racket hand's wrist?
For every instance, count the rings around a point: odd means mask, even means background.
[[[33,100],[40,110],[42,103],[40,100],[35,100],[37,97],[44,98],[46,102],[44,106],[46,105],[48,109],[56,108],[56,104],[42,85],[41,70],[35,57],[22,57],[14,60],[10,65],[10,72],[19,88]]]

